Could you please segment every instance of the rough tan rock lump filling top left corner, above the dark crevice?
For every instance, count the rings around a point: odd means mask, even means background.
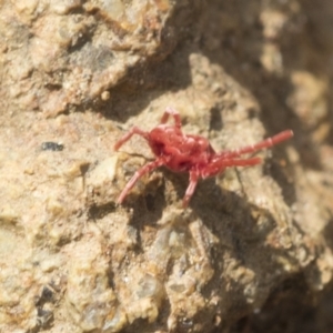
[[[2,94],[50,117],[105,99],[148,57],[170,52],[180,19],[199,8],[200,0],[190,2],[2,1]]]

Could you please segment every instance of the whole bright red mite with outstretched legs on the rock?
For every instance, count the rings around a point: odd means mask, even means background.
[[[173,125],[167,124],[170,115],[174,118]],[[129,191],[142,175],[161,165],[165,165],[175,172],[190,173],[190,184],[183,199],[184,208],[188,206],[199,179],[216,175],[230,167],[259,164],[261,163],[260,158],[242,159],[241,155],[270,148],[293,137],[293,132],[286,130],[253,145],[216,153],[205,138],[182,132],[180,114],[172,108],[165,110],[161,124],[150,132],[144,132],[137,127],[132,128],[114,144],[114,150],[119,150],[133,134],[141,135],[148,141],[157,159],[147,163],[134,173],[118,198],[118,203],[123,202]]]

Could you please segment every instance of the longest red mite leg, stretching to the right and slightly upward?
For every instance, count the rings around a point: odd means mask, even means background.
[[[268,138],[266,140],[258,142],[255,144],[222,152],[219,154],[219,157],[230,159],[230,158],[236,158],[236,157],[240,157],[240,155],[246,154],[246,153],[253,153],[253,152],[256,152],[262,149],[271,148],[272,145],[275,145],[282,141],[285,141],[285,140],[292,138],[293,135],[294,135],[293,131],[286,130],[286,131],[280,132],[279,134],[276,134],[274,137]]]

